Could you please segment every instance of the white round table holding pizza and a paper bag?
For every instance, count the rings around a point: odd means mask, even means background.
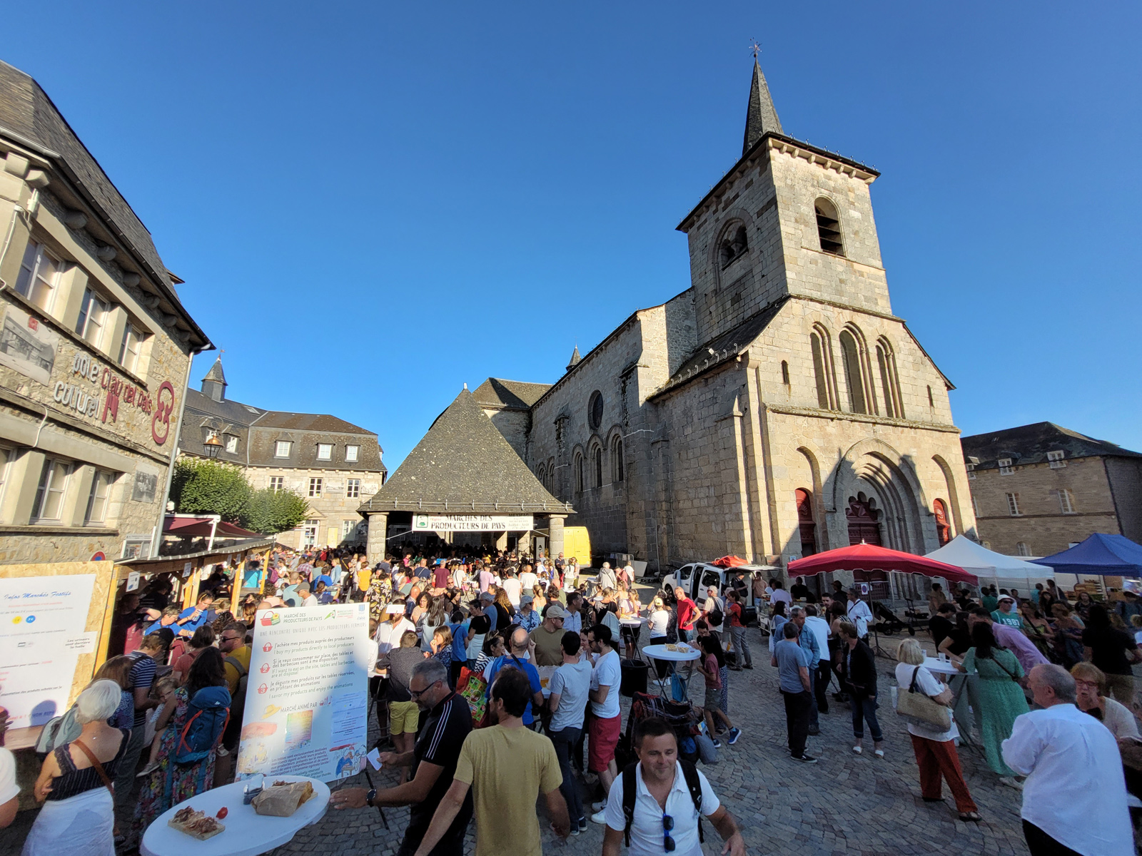
[[[316,823],[325,816],[329,806],[329,785],[305,776],[266,776],[266,785],[274,782],[305,782],[313,785],[313,797],[300,805],[290,817],[259,815],[254,806],[242,805],[246,782],[215,788],[198,797],[172,806],[147,826],[139,842],[142,856],[257,856],[281,847],[297,834],[303,826]],[[206,841],[169,826],[167,822],[180,808],[190,806],[214,817],[225,806],[228,814],[220,823],[225,831]]]

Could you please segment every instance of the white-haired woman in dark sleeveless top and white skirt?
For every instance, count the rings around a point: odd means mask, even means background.
[[[119,708],[121,687],[96,680],[75,701],[82,730],[56,746],[35,780],[35,799],[43,802],[22,856],[114,856],[115,824],[112,782],[130,737],[107,719]]]

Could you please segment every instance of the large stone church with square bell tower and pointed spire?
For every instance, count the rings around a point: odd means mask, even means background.
[[[596,559],[783,565],[974,534],[952,386],[888,300],[877,176],[788,136],[755,63],[741,159],[678,225],[691,286],[554,385],[473,391]]]

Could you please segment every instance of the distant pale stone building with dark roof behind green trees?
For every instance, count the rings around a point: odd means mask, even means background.
[[[291,490],[309,503],[306,520],[278,540],[293,548],[363,544],[364,519],[356,507],[385,483],[377,435],[327,413],[263,410],[226,397],[219,356],[202,378],[201,391],[186,390],[178,451],[207,457],[211,436],[222,442],[217,460],[242,467],[255,490]]]

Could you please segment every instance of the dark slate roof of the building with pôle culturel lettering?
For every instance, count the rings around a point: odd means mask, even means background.
[[[146,267],[151,278],[167,292],[167,301],[183,316],[200,344],[210,340],[191,317],[175,291],[167,266],[146,226],[123,199],[103,167],[87,151],[51,98],[29,74],[0,60],[0,134],[34,148],[49,159],[86,197],[85,201],[116,232],[120,241],[136,260]]]

